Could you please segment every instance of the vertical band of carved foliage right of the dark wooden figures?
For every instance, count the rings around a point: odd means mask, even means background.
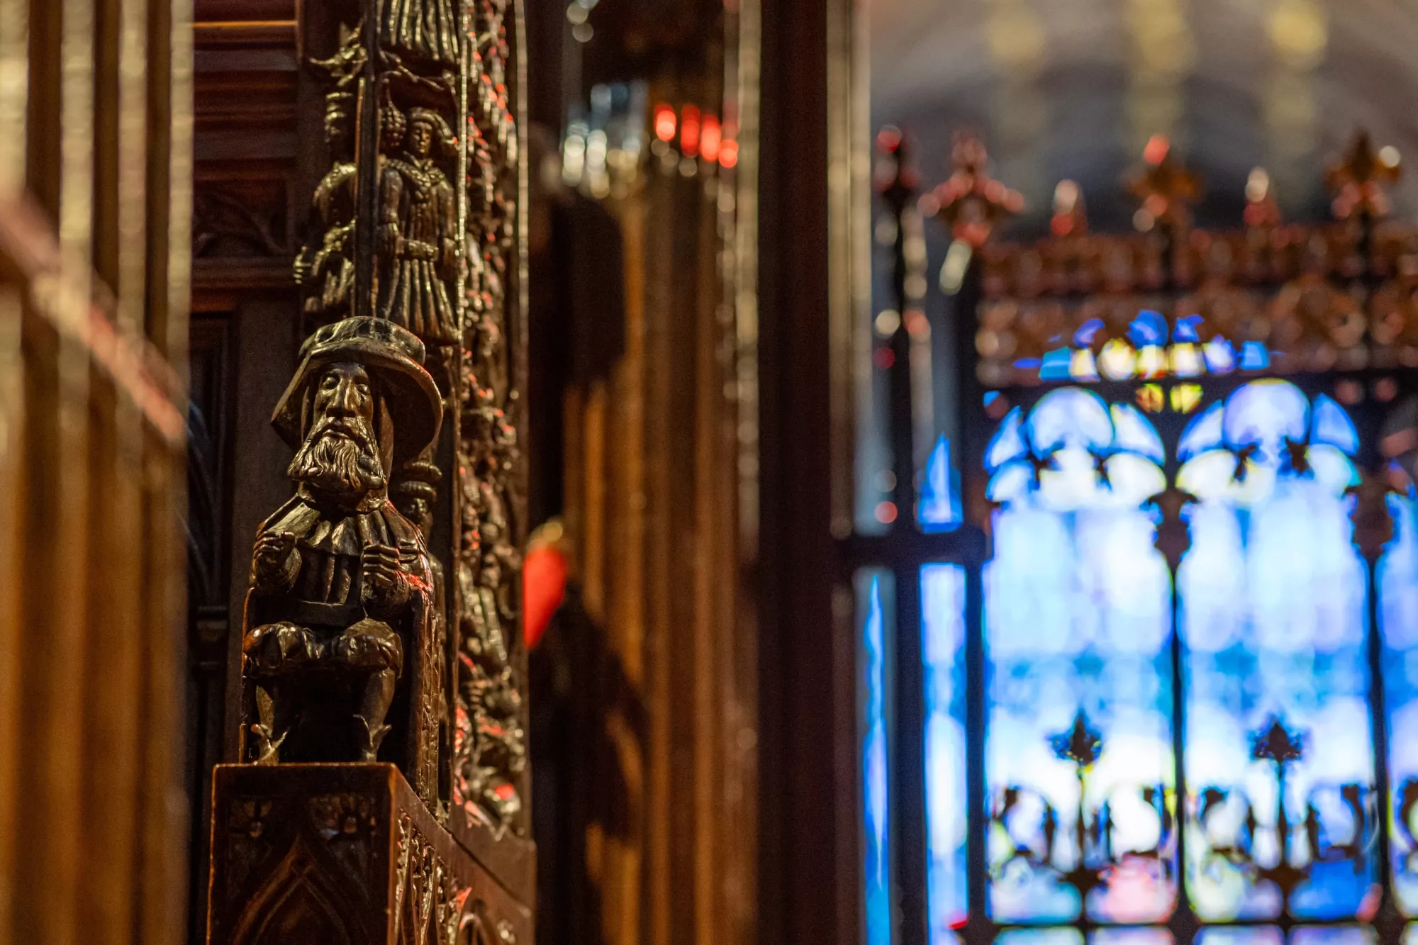
[[[516,406],[508,350],[515,261],[518,135],[509,106],[505,0],[474,0],[469,77],[468,233],[461,414],[459,627],[454,802],[468,823],[518,829],[526,763],[522,691],[512,657]]]

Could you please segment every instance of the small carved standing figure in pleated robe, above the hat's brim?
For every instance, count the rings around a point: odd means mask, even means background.
[[[404,152],[380,169],[379,315],[428,345],[457,341],[450,282],[458,277],[458,213],[452,184],[434,160],[434,146],[452,146],[437,112],[408,112]]]

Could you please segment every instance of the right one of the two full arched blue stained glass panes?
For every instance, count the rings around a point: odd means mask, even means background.
[[[1353,465],[1306,444],[1309,413],[1288,382],[1246,385],[1225,403],[1225,441],[1177,477],[1198,498],[1178,590],[1187,874],[1204,921],[1344,918],[1374,883]]]

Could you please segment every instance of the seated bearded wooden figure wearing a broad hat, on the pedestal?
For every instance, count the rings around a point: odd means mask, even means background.
[[[440,692],[424,654],[434,620],[423,534],[389,498],[389,470],[434,441],[442,402],[424,346],[376,318],[319,329],[272,421],[292,446],[296,494],[257,535],[242,639],[245,734],[254,761],[376,761],[394,724],[425,799]],[[403,694],[396,707],[396,695]],[[410,705],[413,702],[413,705]],[[394,709],[394,711],[391,711]]]

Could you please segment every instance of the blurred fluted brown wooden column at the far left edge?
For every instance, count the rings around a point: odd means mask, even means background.
[[[187,28],[0,3],[4,941],[180,941]]]

